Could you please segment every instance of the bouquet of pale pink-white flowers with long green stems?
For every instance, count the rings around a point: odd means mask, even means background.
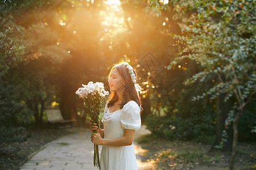
[[[98,122],[98,116],[100,114],[100,109],[104,108],[101,104],[102,100],[106,95],[109,95],[108,91],[104,90],[104,84],[101,82],[89,82],[87,85],[82,84],[76,94],[84,100],[85,105],[85,116],[92,118],[92,123]],[[97,124],[98,126],[98,124]],[[97,130],[93,130],[94,133],[97,133]],[[98,155],[98,145],[94,144],[94,167],[97,165],[97,168],[100,168],[100,157]]]

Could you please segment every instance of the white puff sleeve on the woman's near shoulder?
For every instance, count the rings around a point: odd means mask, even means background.
[[[139,105],[131,100],[129,103],[123,105],[122,113],[119,122],[124,129],[138,130],[141,128],[141,116],[139,115],[141,109]]]

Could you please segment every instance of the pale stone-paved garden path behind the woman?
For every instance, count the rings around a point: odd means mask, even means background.
[[[74,129],[72,129],[74,130]],[[148,134],[150,131],[142,125],[137,130],[134,139],[138,139],[141,135]],[[138,152],[142,150],[136,142],[134,148],[139,169],[143,169],[143,163],[139,158]],[[99,152],[101,146],[99,146]],[[65,135],[55,141],[47,143],[39,151],[30,156],[30,160],[23,164],[20,170],[64,170],[64,169],[97,169],[93,167],[93,143],[90,142],[89,129],[75,129],[75,133]]]

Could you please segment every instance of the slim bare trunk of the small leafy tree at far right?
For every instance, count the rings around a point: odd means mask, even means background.
[[[243,111],[243,107],[238,108],[237,116],[233,122],[234,137],[233,137],[232,154],[229,162],[229,170],[234,170],[234,160],[236,158],[237,142],[238,142],[238,120],[241,117],[242,111]]]

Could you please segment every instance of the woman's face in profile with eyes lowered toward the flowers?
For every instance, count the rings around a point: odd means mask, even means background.
[[[124,89],[124,85],[121,75],[114,69],[109,79],[110,91],[121,92]]]

